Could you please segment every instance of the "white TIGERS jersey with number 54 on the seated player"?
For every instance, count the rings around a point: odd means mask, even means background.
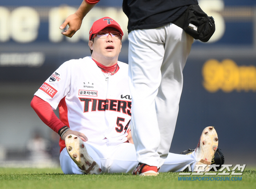
[[[59,106],[60,120],[71,130],[84,133],[89,142],[120,144],[127,141],[131,119],[128,65],[106,76],[85,57],[63,63],[34,95]],[[61,150],[65,142],[60,140]]]

